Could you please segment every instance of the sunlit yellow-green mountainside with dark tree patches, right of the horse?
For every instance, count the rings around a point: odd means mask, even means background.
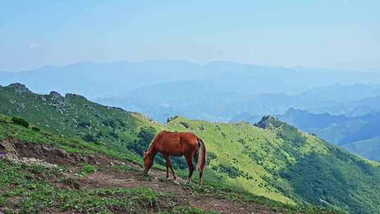
[[[303,133],[305,143],[296,145],[278,137],[278,130],[185,118],[173,120],[167,128],[198,134],[208,145],[208,151],[217,156],[210,163],[211,168],[227,163],[248,173],[253,179],[239,176],[234,181],[255,194],[286,203],[303,201],[339,207],[352,213],[376,213],[380,208],[379,163],[354,156],[311,135]],[[239,139],[243,139],[246,147]]]

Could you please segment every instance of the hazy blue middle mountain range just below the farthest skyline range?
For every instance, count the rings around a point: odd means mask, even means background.
[[[349,86],[341,87],[346,88]],[[362,87],[364,86],[360,88]],[[369,85],[368,87],[372,88],[374,85]],[[317,94],[317,92],[320,93],[318,96],[310,95],[310,93]],[[240,120],[239,115],[241,114],[254,115],[257,122],[262,115],[281,115],[286,113],[289,108],[303,109],[317,114],[347,115],[347,117],[357,117],[380,111],[380,108],[377,108],[375,104],[376,97],[364,98],[373,100],[373,105],[371,102],[367,102],[372,105],[372,107],[369,107],[365,106],[365,101],[362,100],[351,101],[348,99],[348,101],[342,103],[331,101],[327,99],[329,92],[326,92],[326,94],[322,92],[323,90],[320,88],[316,92],[312,92],[310,89],[308,93],[293,95],[224,92],[221,89],[214,89],[201,81],[192,80],[165,82],[141,87],[130,92],[125,97],[96,99],[95,101],[108,106],[118,106],[131,111],[139,111],[160,122],[164,122],[165,118],[172,115],[185,115],[192,119],[227,122]],[[371,95],[371,93],[362,94],[363,97]],[[245,120],[253,122],[248,118],[245,118]]]

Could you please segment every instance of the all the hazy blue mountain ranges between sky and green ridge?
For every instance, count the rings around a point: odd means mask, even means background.
[[[19,73],[35,92],[83,94],[90,100],[165,122],[174,115],[220,122],[285,122],[373,160],[380,159],[380,73],[277,68],[215,61],[77,63]]]

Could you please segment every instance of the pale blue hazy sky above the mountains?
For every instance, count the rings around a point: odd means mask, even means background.
[[[380,1],[1,1],[0,70],[234,61],[380,72]]]

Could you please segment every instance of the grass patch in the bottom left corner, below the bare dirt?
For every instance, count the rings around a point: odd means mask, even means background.
[[[46,209],[75,213],[113,213],[115,210],[146,213],[174,203],[172,195],[148,187],[61,189],[49,184],[49,180],[63,177],[60,168],[47,169],[0,160],[0,169],[0,210],[2,208],[5,213],[39,213]]]

